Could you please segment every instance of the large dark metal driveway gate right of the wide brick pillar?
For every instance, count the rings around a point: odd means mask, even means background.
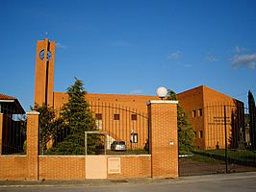
[[[193,115],[194,148],[191,155],[179,157],[179,175],[256,171],[249,135],[255,119],[249,121],[249,116],[248,108],[236,102],[209,105]]]

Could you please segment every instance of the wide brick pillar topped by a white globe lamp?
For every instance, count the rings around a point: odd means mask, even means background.
[[[177,101],[149,101],[152,178],[178,177]]]

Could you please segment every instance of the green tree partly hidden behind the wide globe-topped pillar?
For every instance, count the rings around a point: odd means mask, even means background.
[[[168,89],[167,95],[167,100],[177,100],[177,95],[174,91]],[[177,121],[179,154],[190,154],[193,149],[192,141],[194,138],[194,133],[192,131],[192,124],[190,123],[188,116],[179,104],[177,106]]]

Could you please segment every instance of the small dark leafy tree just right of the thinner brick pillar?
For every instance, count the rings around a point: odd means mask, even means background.
[[[38,104],[35,105],[33,110],[37,110],[40,114],[39,118],[39,143],[40,143],[40,150],[46,149],[46,144],[51,140],[54,139],[56,136],[56,122],[57,119],[55,118],[55,111],[53,108],[46,106],[44,103],[41,106]]]

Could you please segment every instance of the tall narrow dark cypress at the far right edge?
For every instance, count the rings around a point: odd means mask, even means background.
[[[255,101],[252,93],[248,92],[248,106],[249,106],[249,134],[252,150],[256,150],[256,109]]]

